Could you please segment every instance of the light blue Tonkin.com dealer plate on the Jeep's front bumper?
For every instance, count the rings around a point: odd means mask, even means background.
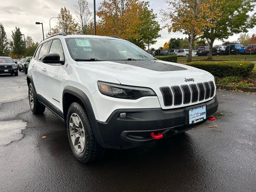
[[[202,122],[206,119],[206,105],[191,108],[188,110],[189,124]]]

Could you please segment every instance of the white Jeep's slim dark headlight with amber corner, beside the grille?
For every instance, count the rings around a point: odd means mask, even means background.
[[[155,92],[146,87],[134,87],[121,84],[98,81],[100,92],[106,96],[122,99],[138,99],[146,96],[156,96]]]

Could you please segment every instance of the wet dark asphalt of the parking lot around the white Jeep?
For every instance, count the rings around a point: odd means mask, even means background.
[[[0,84],[1,192],[256,191],[256,94],[217,90],[215,121],[82,164],[64,123],[30,112],[23,72]]]

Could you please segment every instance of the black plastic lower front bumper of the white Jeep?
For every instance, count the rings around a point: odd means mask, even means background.
[[[189,110],[206,106],[205,118],[198,118],[191,124]],[[115,110],[106,122],[97,121],[105,148],[126,149],[154,141],[154,135],[168,138],[202,124],[218,110],[216,96],[208,101],[186,108],[162,110],[120,109]]]

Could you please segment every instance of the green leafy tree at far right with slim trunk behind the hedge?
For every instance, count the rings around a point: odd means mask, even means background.
[[[202,35],[210,46],[209,59],[212,58],[214,40],[223,40],[233,34],[248,32],[248,28],[255,26],[255,14],[249,15],[249,12],[254,9],[255,2],[256,0],[225,0],[210,4],[211,10],[217,12],[218,17],[205,17],[212,24],[204,27]]]

